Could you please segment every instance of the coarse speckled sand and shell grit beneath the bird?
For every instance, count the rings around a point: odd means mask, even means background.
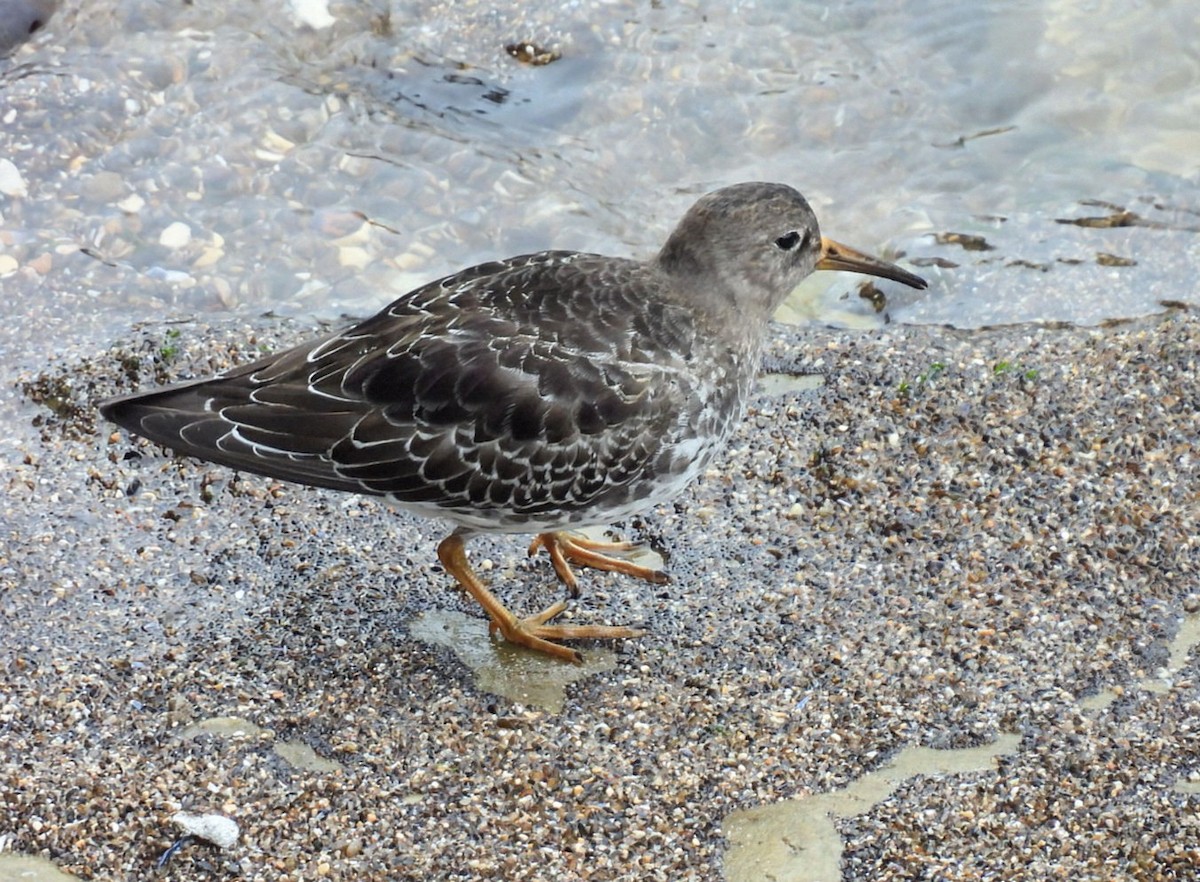
[[[157,324],[22,378],[40,425],[0,512],[7,848],[146,877],[182,810],[239,839],[185,845],[166,878],[820,878],[787,812],[924,746],[884,802],[829,816],[844,878],[1194,876],[1190,313],[781,326],[776,392],[728,454],[619,529],[674,582],[583,574],[576,620],[650,629],[583,671],[487,638],[439,524],[94,422],[156,373],[313,330]],[[52,410],[44,389],[68,391]],[[518,610],[560,594],[520,541],[474,559]]]

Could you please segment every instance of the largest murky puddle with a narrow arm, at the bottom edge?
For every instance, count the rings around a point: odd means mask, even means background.
[[[1012,754],[1020,736],[964,750],[906,748],[883,768],[833,793],[788,799],[736,811],[721,829],[730,840],[725,877],[730,882],[828,882],[841,878],[842,841],[834,821],[868,811],[914,775],[988,772],[997,756]]]

